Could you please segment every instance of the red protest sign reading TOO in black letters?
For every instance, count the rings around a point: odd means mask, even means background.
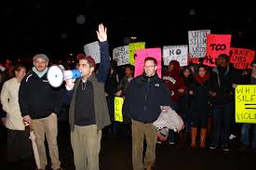
[[[220,54],[226,54],[229,56],[230,44],[230,34],[208,34],[207,55],[204,58],[204,64],[210,67],[215,67],[215,59]]]

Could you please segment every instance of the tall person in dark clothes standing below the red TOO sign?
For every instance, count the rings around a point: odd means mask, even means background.
[[[234,102],[234,88],[239,82],[239,78],[228,61],[229,57],[226,54],[219,55],[216,59],[217,67],[212,70],[210,77],[209,95],[213,101],[213,129],[210,149],[216,149],[221,144],[223,150],[229,150],[232,102]],[[222,141],[220,141],[221,136]]]

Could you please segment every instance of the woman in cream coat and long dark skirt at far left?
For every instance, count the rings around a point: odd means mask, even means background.
[[[22,78],[26,74],[23,65],[13,69],[14,77],[7,80],[1,90],[1,103],[7,112],[5,125],[7,127],[7,161],[16,162],[31,156],[31,141],[29,127],[22,122],[19,105],[19,88]]]

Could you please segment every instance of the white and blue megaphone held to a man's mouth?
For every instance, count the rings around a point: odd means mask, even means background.
[[[49,67],[47,72],[47,80],[49,85],[53,87],[59,87],[62,85],[63,81],[68,79],[77,79],[82,76],[82,72],[77,69],[74,70],[63,70],[58,65],[53,65]]]

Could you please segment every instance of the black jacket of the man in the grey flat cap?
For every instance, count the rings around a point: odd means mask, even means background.
[[[62,89],[48,84],[47,73],[40,78],[35,72],[28,72],[20,83],[19,104],[22,116],[45,118],[61,111]]]

